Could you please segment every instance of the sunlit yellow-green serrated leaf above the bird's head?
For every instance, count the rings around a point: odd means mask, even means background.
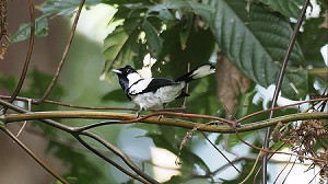
[[[131,61],[138,53],[138,36],[140,30],[140,18],[126,19],[122,25],[108,34],[104,41],[105,68],[103,74],[107,76],[110,69],[119,68]]]

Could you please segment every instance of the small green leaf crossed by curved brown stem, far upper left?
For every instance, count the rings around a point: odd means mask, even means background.
[[[14,44],[21,41],[25,41],[30,37],[31,33],[31,24],[25,23],[21,24],[19,31],[10,37],[10,43]],[[47,36],[48,35],[48,18],[47,16],[40,16],[35,20],[35,36]]]

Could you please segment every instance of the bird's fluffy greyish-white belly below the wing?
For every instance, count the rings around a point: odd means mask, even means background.
[[[148,110],[151,107],[163,107],[164,103],[169,103],[180,95],[185,83],[180,82],[176,85],[162,87],[155,92],[148,92],[138,95],[131,95],[132,102],[138,104],[140,108]]]

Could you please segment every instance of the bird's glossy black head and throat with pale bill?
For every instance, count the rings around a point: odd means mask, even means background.
[[[129,82],[130,82],[128,74],[138,73],[138,72],[129,65],[119,69],[113,69],[112,71],[117,74],[120,87],[127,93],[129,89]]]

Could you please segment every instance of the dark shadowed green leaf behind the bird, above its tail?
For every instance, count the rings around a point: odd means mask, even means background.
[[[172,77],[177,79],[187,72],[188,64],[191,69],[207,64],[214,48],[214,38],[210,30],[190,30],[186,48],[181,48],[180,32],[185,28],[188,21],[181,21],[169,27],[161,34],[164,39],[161,60],[166,62],[156,62],[153,68],[153,76]]]

